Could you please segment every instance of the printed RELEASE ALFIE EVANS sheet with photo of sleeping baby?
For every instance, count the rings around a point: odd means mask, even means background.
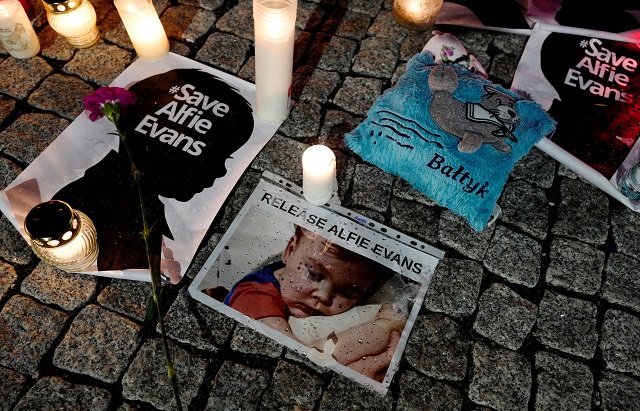
[[[316,364],[385,390],[426,291],[429,276],[416,272],[430,273],[437,257],[341,216],[324,217],[330,211],[311,211],[289,195],[267,192],[241,213],[192,296],[260,324],[254,328]]]

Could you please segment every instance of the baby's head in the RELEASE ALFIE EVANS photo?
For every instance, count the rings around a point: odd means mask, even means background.
[[[358,303],[377,273],[349,257],[320,236],[294,236],[283,254],[285,267],[275,273],[289,313],[298,318],[334,315]]]

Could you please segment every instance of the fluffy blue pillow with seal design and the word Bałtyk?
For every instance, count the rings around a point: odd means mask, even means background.
[[[554,129],[536,102],[420,53],[345,144],[481,231],[515,163]]]

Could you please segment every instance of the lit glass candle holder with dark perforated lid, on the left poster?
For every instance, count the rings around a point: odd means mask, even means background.
[[[98,258],[96,228],[91,219],[64,201],[33,207],[24,221],[31,248],[40,259],[64,271],[78,272]]]

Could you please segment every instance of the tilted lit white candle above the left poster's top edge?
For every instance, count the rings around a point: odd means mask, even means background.
[[[115,0],[114,4],[143,60],[158,60],[169,52],[169,40],[151,0]]]

